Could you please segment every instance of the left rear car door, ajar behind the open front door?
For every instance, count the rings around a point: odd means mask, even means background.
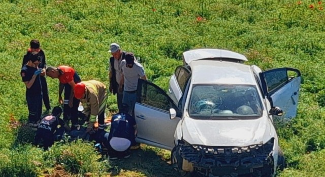
[[[184,93],[189,77],[190,71],[184,66],[178,66],[169,81],[168,95],[176,105]]]

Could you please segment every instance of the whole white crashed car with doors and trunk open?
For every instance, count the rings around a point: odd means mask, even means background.
[[[139,79],[137,142],[172,151],[180,172],[202,176],[272,176],[284,157],[273,119],[297,114],[300,71],[262,72],[219,49],[183,53],[169,93]]]

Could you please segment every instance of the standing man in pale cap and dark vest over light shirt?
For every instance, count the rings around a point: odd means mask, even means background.
[[[120,65],[121,61],[125,59],[126,52],[122,51],[117,43],[111,43],[108,52],[112,54],[109,64],[109,90],[113,95],[116,94],[117,107],[120,111],[123,103],[123,92],[118,92],[119,83],[122,78],[122,68]]]

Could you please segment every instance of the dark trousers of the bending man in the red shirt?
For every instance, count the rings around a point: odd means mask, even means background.
[[[64,84],[64,104],[63,104],[63,120],[71,120],[72,125],[78,124],[78,107],[80,100],[73,98],[72,108],[69,106],[69,99],[71,94],[71,86]]]

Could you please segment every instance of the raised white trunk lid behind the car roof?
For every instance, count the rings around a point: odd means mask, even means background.
[[[194,49],[183,53],[183,62],[185,65],[195,60],[204,59],[228,59],[235,62],[247,61],[247,58],[242,54],[222,49]]]

